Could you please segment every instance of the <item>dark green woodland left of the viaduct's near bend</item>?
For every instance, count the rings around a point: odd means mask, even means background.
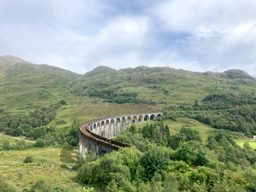
[[[0,132],[13,136],[22,135],[36,140],[34,145],[26,145],[24,140],[20,140],[13,146],[10,146],[9,142],[5,141],[2,148],[9,150],[34,146],[44,147],[56,144],[62,145],[65,142],[71,146],[77,146],[79,143],[79,130],[77,127],[82,124],[81,121],[75,119],[71,126],[64,126],[61,132],[57,132],[54,126],[47,126],[57,114],[56,110],[63,105],[66,105],[66,102],[61,100],[50,107],[42,107],[40,110],[30,111],[29,115],[2,115],[0,117]],[[65,121],[63,122],[65,124]],[[67,132],[66,129],[70,131]]]

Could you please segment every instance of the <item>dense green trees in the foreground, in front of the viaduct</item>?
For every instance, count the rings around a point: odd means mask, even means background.
[[[255,149],[248,142],[238,146],[226,131],[213,132],[203,144],[191,127],[170,135],[160,120],[142,129],[132,125],[115,140],[140,150],[122,148],[99,157],[92,148],[85,161],[77,161],[79,180],[108,192],[245,192],[256,184]]]

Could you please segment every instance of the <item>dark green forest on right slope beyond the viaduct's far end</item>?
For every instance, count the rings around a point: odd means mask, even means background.
[[[183,103],[181,106],[165,107],[166,119],[180,117],[197,119],[216,129],[226,129],[243,133],[253,138],[256,134],[256,100],[253,93],[221,93],[205,96],[200,105],[195,99],[193,106]]]

